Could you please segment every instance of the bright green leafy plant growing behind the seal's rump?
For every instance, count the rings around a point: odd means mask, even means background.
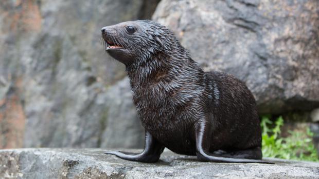
[[[313,133],[307,128],[306,133],[289,131],[288,137],[280,137],[280,127],[283,125],[281,116],[275,123],[270,116],[261,118],[262,154],[265,157],[277,157],[288,160],[319,161],[317,151],[312,144]]]

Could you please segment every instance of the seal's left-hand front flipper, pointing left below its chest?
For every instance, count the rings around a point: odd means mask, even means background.
[[[160,159],[160,156],[164,150],[164,146],[157,142],[155,138],[149,133],[145,132],[145,149],[143,152],[130,153],[130,152],[119,152],[119,151],[107,151],[105,154],[116,155],[124,160],[154,163]]]

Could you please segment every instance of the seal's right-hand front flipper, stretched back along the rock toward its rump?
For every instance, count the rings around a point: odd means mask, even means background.
[[[210,146],[210,124],[201,121],[196,126],[196,155],[199,161],[202,162],[221,162],[221,163],[262,163],[273,164],[267,161],[254,160],[247,158],[232,158],[223,157],[220,155],[209,153]],[[244,156],[244,155],[241,155]],[[261,156],[260,156],[261,158]]]

